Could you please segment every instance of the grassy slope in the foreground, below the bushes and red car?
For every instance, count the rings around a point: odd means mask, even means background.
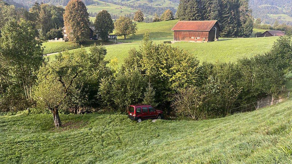
[[[0,116],[0,163],[291,163],[292,101],[205,121]]]

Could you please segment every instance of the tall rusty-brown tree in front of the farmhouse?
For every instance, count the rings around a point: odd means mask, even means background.
[[[64,24],[68,38],[75,43],[81,43],[89,37],[89,15],[84,3],[80,0],[71,0],[65,7]]]

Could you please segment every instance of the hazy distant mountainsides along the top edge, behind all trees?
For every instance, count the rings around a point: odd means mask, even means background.
[[[70,0],[4,0],[8,4],[15,4],[17,7],[31,7],[35,1],[54,5],[66,6]],[[82,0],[86,6],[96,5],[98,1]],[[180,0],[100,0],[106,3],[116,4],[142,10],[147,15],[157,13],[161,15],[165,10],[170,9],[174,13],[178,8]],[[273,24],[275,20],[280,23],[292,25],[292,0],[249,0],[253,10],[254,18],[261,18],[264,23]],[[122,14],[122,13],[121,13]]]

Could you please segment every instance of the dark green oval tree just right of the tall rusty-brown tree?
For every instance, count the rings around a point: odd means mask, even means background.
[[[103,41],[106,41],[109,34],[114,30],[114,23],[108,11],[102,10],[96,15],[94,27],[98,36],[101,37]]]

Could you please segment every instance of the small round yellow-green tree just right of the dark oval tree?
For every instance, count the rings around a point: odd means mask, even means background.
[[[130,18],[121,16],[116,22],[114,22],[114,28],[116,30],[117,36],[126,36],[130,34],[136,34],[137,27],[136,23],[133,22]]]

